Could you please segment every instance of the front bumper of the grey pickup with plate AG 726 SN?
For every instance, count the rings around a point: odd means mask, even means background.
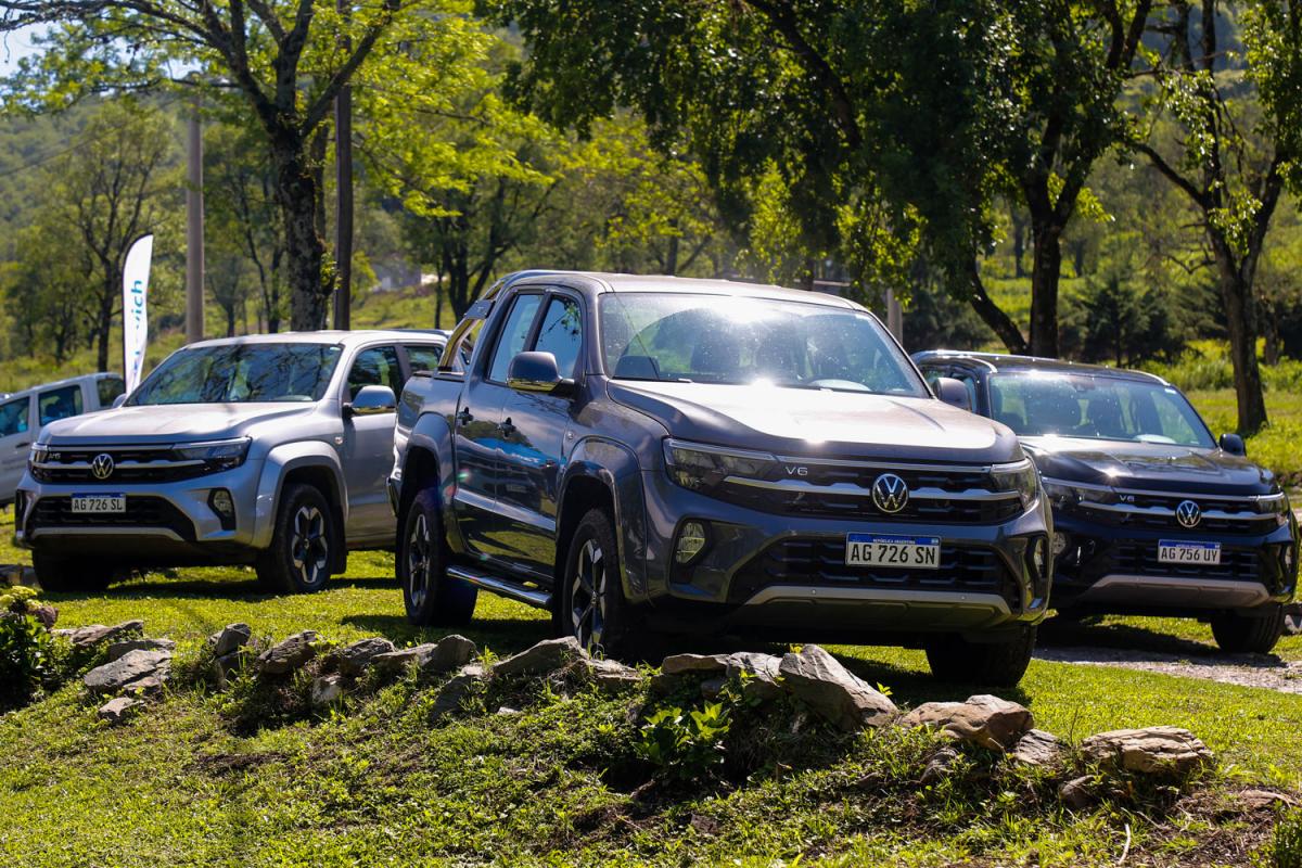
[[[643,492],[648,596],[658,616],[680,625],[758,627],[775,640],[818,631],[993,634],[1035,625],[1048,609],[1051,567],[1036,575],[1030,557],[1031,543],[1047,545],[1052,530],[1043,498],[982,524],[775,514],[654,471],[643,472]],[[707,526],[708,544],[681,566],[673,550],[687,521]],[[848,532],[940,537],[940,569],[848,566]]]

